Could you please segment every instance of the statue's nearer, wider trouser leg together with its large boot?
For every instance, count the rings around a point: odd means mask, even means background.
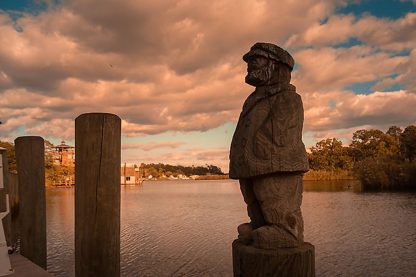
[[[303,242],[302,175],[275,175],[254,180],[254,192],[267,226],[253,232],[254,245],[276,249]]]

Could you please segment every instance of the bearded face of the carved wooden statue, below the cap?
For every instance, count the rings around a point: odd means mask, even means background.
[[[260,87],[267,84],[267,59],[261,56],[252,56],[247,62],[246,83]]]

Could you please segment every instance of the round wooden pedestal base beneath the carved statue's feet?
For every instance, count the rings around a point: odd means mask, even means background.
[[[315,246],[266,250],[232,243],[234,277],[315,277]]]

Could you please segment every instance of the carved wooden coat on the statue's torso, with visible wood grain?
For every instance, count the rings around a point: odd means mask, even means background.
[[[293,85],[256,88],[244,102],[232,138],[230,178],[307,172],[302,126],[302,100]]]

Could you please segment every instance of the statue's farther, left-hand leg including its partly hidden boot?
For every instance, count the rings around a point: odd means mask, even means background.
[[[266,225],[263,213],[261,212],[260,203],[256,199],[253,190],[253,180],[240,180],[240,189],[243,194],[244,202],[247,204],[247,214],[250,217],[250,223],[243,223],[238,226],[239,238],[243,240],[252,240],[252,231]]]

